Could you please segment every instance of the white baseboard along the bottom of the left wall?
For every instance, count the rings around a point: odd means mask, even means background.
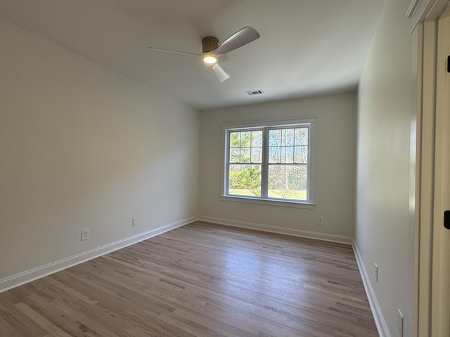
[[[96,249],[91,249],[90,251],[84,251],[83,253],[69,256],[68,258],[63,258],[62,260],[57,260],[47,265],[36,267],[32,270],[20,272],[19,274],[13,275],[11,277],[0,279],[0,293],[8,289],[15,288],[16,286],[20,286],[21,284],[31,282],[34,279],[40,279],[41,277],[51,275],[60,270],[67,269],[68,267],[86,262],[87,260],[98,258],[98,256],[105,255],[112,251],[117,251],[118,249],[130,246],[131,244],[137,244],[138,242],[141,242],[143,240],[150,239],[150,237],[155,237],[156,235],[168,232],[169,230],[174,230],[176,227],[181,227],[187,225],[188,223],[192,223],[195,220],[198,220],[196,216],[186,218],[184,220],[179,220],[174,223],[169,223],[168,225],[164,225],[158,228],[154,228],[153,230],[134,235],[133,237],[127,237],[126,239],[122,239],[111,244],[105,244],[104,246],[98,247]]]

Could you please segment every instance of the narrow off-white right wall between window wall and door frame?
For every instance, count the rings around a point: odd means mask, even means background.
[[[413,335],[413,36],[404,16],[409,3],[386,0],[359,84],[356,245],[390,336],[399,336],[397,309],[405,317],[404,336]]]

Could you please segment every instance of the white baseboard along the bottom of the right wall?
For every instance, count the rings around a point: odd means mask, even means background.
[[[361,278],[363,279],[364,289],[366,289],[366,295],[368,298],[368,303],[371,305],[371,310],[373,314],[373,319],[378,329],[378,334],[380,337],[391,337],[389,330],[387,329],[387,324],[383,313],[381,312],[380,305],[378,305],[378,300],[375,296],[375,291],[373,291],[371,281],[368,277],[366,267],[359,253],[358,246],[356,242],[353,242],[354,256],[356,257],[356,263],[358,263],[359,272],[361,273]]]

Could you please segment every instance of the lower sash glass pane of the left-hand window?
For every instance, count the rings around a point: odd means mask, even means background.
[[[261,165],[230,164],[229,194],[261,197]]]

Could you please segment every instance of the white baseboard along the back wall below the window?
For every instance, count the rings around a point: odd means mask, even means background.
[[[311,232],[309,230],[297,230],[295,228],[288,228],[288,227],[275,227],[271,225],[262,225],[259,223],[248,223],[245,221],[214,218],[212,216],[198,216],[198,220],[205,221],[207,223],[217,223],[219,225],[229,225],[233,227],[248,228],[250,230],[262,230],[264,232],[293,235],[295,237],[307,237],[309,239],[340,242],[341,244],[353,244],[353,239],[351,237],[345,237],[343,235]]]

